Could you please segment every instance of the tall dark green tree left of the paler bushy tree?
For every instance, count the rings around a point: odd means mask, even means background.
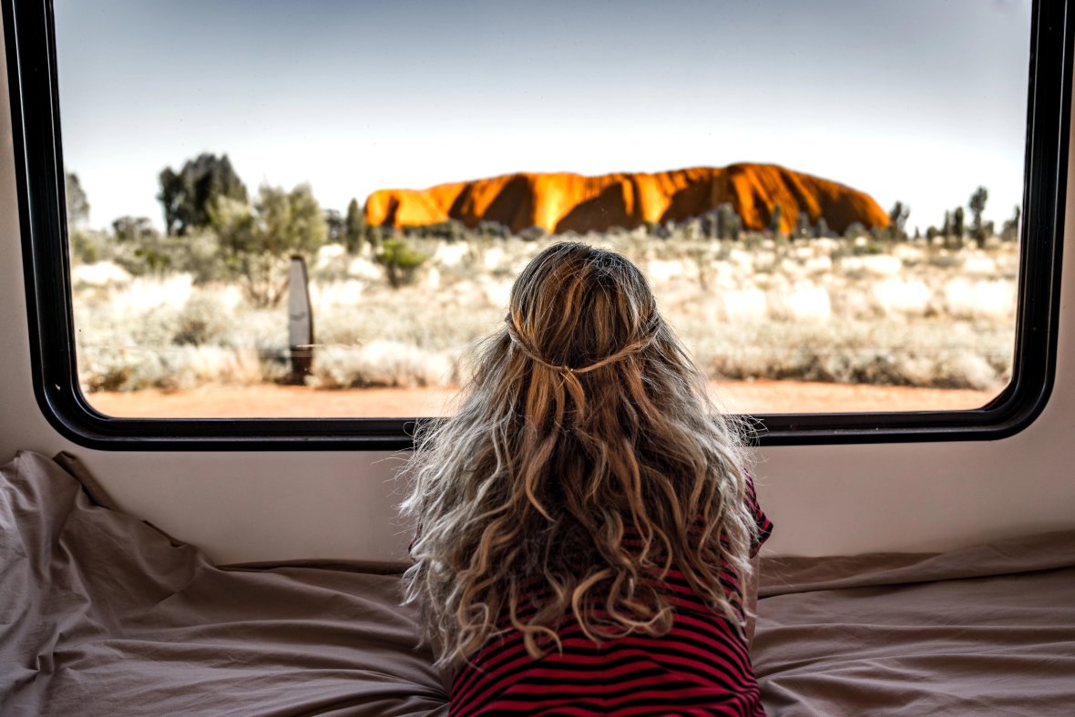
[[[164,209],[164,233],[170,236],[212,225],[210,215],[218,199],[246,202],[246,185],[228,155],[201,154],[187,160],[178,172],[166,167],[159,181],[157,199]]]

